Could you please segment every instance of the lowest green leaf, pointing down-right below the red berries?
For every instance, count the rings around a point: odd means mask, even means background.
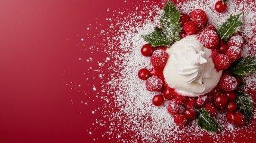
[[[205,108],[198,110],[198,126],[207,131],[220,132],[220,127],[218,123],[210,116]]]

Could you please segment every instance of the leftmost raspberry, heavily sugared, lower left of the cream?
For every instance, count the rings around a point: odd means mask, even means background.
[[[160,91],[163,84],[163,81],[159,77],[152,76],[147,79],[146,88],[148,91]]]

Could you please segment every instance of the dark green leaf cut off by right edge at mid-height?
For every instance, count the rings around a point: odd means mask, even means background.
[[[256,58],[251,56],[243,58],[236,66],[231,68],[231,71],[239,76],[254,73],[256,71]]]

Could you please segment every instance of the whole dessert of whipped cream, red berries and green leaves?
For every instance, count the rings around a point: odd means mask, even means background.
[[[226,2],[218,1],[215,10],[226,11]],[[243,12],[215,27],[205,11],[180,14],[168,2],[160,22],[153,33],[142,35],[147,44],[141,54],[150,57],[152,68],[138,71],[146,89],[157,93],[152,104],[168,102],[166,110],[181,127],[197,120],[202,129],[220,132],[218,113],[235,126],[248,125],[254,103],[242,77],[256,71],[256,58],[241,57]]]

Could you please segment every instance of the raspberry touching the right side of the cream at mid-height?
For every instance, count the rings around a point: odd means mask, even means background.
[[[230,60],[227,55],[220,54],[214,59],[214,65],[217,71],[225,70],[230,67]]]

